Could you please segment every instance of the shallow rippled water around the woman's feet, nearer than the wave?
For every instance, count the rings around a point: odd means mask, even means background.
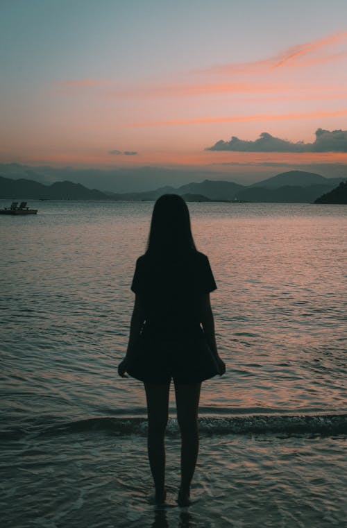
[[[17,450],[18,450],[17,445]],[[202,438],[193,504],[176,504],[179,439],[167,441],[167,507],[151,504],[146,440],[110,434],[5,445],[1,528],[344,527],[346,436]]]

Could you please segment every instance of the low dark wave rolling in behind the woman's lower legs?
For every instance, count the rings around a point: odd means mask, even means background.
[[[199,429],[203,435],[224,434],[321,434],[335,436],[347,434],[347,414],[303,414],[303,415],[253,415],[253,416],[219,416],[199,418]],[[31,436],[60,436],[68,434],[90,434],[105,432],[117,436],[145,436],[146,418],[86,418],[74,422],[36,427],[16,427],[7,429],[1,436],[7,439],[18,439],[28,434]],[[178,436],[178,423],[170,418],[167,434]]]

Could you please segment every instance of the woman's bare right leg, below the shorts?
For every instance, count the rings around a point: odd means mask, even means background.
[[[189,503],[190,484],[198,458],[198,401],[201,383],[175,384],[177,420],[182,439],[178,502]]]

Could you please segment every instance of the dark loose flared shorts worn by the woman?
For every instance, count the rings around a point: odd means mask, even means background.
[[[144,332],[135,346],[128,374],[145,383],[198,383],[218,374],[203,331],[179,334]]]

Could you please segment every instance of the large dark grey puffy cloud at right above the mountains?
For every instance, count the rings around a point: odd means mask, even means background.
[[[246,141],[232,136],[230,141],[217,141],[205,148],[206,151],[235,152],[347,152],[347,130],[316,130],[313,143],[293,143],[287,139],[271,136],[267,132],[260,134],[255,141]]]

